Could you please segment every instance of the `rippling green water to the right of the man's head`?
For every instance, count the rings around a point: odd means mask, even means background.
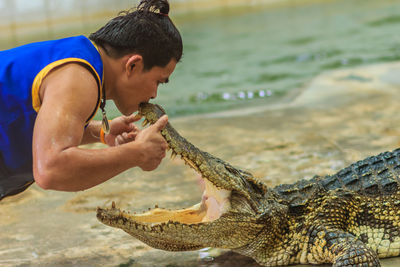
[[[321,72],[399,60],[399,14],[399,1],[347,0],[178,19],[184,57],[157,102],[171,115],[270,105]]]

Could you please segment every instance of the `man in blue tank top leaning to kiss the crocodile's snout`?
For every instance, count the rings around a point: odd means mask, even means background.
[[[78,36],[0,52],[0,199],[33,181],[78,191],[135,166],[151,171],[160,164],[167,148],[160,131],[168,118],[139,131],[131,114],[157,96],[182,56],[168,12],[167,0],[142,0],[90,40]],[[105,99],[125,116],[110,121],[104,134],[91,119],[99,106],[104,110]],[[100,137],[109,147],[78,147]]]

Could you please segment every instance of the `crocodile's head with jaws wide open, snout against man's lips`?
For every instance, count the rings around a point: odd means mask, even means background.
[[[140,115],[155,123],[165,112],[158,105],[141,104]],[[104,224],[123,229],[148,245],[169,251],[205,247],[240,249],[262,233],[281,228],[286,209],[267,186],[245,171],[203,152],[180,136],[168,123],[161,134],[172,155],[179,155],[205,183],[200,203],[181,210],[155,208],[130,214],[115,207],[98,208]]]

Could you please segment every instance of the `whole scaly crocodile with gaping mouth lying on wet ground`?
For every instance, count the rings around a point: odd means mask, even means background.
[[[154,123],[165,111],[141,104]],[[100,222],[167,251],[231,249],[260,265],[380,266],[400,254],[400,149],[351,164],[336,174],[274,188],[201,151],[168,123],[161,134],[173,156],[201,174],[202,200],[187,209],[141,214],[98,208]]]

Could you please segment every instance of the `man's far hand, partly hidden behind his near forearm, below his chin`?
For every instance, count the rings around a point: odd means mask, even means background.
[[[119,146],[135,140],[139,128],[134,122],[140,120],[138,115],[121,116],[110,122],[110,133],[106,134],[104,140],[109,146]]]

